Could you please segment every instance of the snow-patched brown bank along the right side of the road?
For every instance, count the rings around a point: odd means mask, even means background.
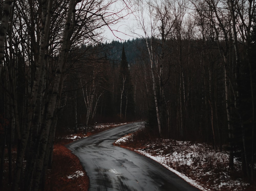
[[[133,138],[129,134],[114,144],[129,148]],[[144,141],[143,146],[130,149],[161,163],[200,190],[241,191],[249,185],[242,179],[242,173],[238,170],[241,164],[238,161],[235,161],[235,170],[231,171],[228,167],[228,152],[215,152],[207,144],[156,139]]]

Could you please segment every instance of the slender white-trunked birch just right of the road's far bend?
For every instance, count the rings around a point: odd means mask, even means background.
[[[160,137],[163,137],[163,98],[164,98],[164,80],[163,80],[163,65],[164,65],[164,47],[165,41],[169,37],[172,31],[172,20],[170,14],[170,2],[169,1],[154,1],[154,2],[138,2],[139,18],[137,22],[141,27],[145,40],[147,52],[149,55],[151,65],[151,77],[152,87],[155,99],[156,116],[158,123],[158,131]],[[146,9],[144,9],[146,8]],[[148,15],[147,15],[148,14]],[[146,16],[147,15],[147,16]],[[146,20],[146,18],[149,18]],[[148,27],[147,27],[148,26]],[[154,50],[153,41],[155,37],[161,39],[161,53],[157,53]],[[160,55],[159,57],[157,55]],[[158,83],[156,81],[155,73],[158,77]],[[157,87],[159,87],[159,94],[157,93]]]

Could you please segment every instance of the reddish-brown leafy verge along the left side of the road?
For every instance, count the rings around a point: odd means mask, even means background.
[[[90,136],[111,128],[118,126],[118,124],[104,125],[100,128],[94,128],[91,132],[88,132],[87,135],[83,134],[83,131],[80,130],[77,134],[72,134],[71,131],[62,131],[56,133],[54,151],[52,156],[52,167],[47,170],[46,173],[46,184],[45,191],[87,191],[89,186],[89,177],[86,175],[86,172],[83,170],[82,165],[75,155],[65,147],[68,143],[82,138],[84,136]],[[71,139],[71,137],[77,136],[76,139]],[[7,151],[6,151],[7,153]],[[13,148],[13,172],[16,159],[16,148]],[[24,163],[25,164],[25,163]],[[5,156],[5,171],[3,186],[0,188],[2,191],[12,191],[12,184],[8,184],[8,157]],[[77,172],[80,172],[80,175],[77,175]],[[83,173],[81,175],[81,173]],[[72,176],[73,175],[73,176]],[[68,178],[72,176],[72,178]]]

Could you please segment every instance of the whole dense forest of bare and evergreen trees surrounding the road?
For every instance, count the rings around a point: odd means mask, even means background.
[[[142,35],[103,43],[114,2],[1,2],[0,188],[5,156],[13,190],[43,189],[55,134],[134,120],[228,149],[253,180],[255,1],[136,1]]]

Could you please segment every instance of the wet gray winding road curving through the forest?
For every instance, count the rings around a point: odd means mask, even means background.
[[[198,191],[152,159],[112,145],[141,124],[122,125],[67,145],[89,176],[89,191]]]

